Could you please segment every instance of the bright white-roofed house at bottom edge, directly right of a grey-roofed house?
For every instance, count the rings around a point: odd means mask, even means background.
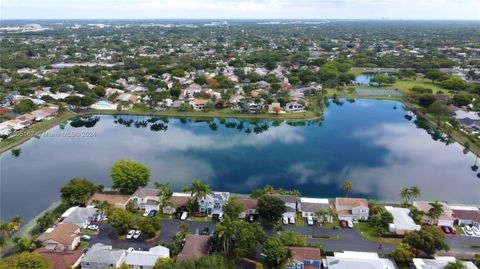
[[[170,250],[164,246],[152,247],[148,251],[129,248],[125,263],[128,268],[152,269],[158,259],[164,258],[170,258]]]

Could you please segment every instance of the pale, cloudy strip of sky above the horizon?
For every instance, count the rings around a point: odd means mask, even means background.
[[[480,0],[0,0],[0,18],[480,20]]]

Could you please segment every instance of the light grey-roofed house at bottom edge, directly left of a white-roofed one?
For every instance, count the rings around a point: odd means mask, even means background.
[[[82,259],[82,269],[107,269],[120,267],[126,260],[127,252],[112,246],[97,243]]]

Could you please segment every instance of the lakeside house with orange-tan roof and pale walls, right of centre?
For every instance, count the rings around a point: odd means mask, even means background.
[[[340,220],[359,221],[368,219],[368,201],[361,198],[336,198],[335,209]]]

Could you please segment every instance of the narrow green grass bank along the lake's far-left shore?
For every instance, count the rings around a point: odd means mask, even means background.
[[[39,122],[37,124],[34,124],[34,125],[28,127],[27,129],[23,130],[20,133],[23,133],[23,132],[41,133],[41,132],[44,132],[44,131],[46,131],[46,130],[48,130],[48,129],[50,129],[50,128],[66,121],[66,120],[68,120],[68,119],[71,119],[75,115],[76,114],[73,113],[73,112],[63,111],[58,116],[56,116],[55,118],[50,119],[50,120],[46,120],[46,121],[42,121],[42,122]],[[18,136],[18,134],[17,134],[17,135],[13,135],[13,136],[5,139],[5,140],[2,140],[2,141],[0,141],[0,153],[14,148],[14,147],[22,144],[23,142],[29,140],[30,138],[32,138],[32,136],[30,136],[30,135]]]

